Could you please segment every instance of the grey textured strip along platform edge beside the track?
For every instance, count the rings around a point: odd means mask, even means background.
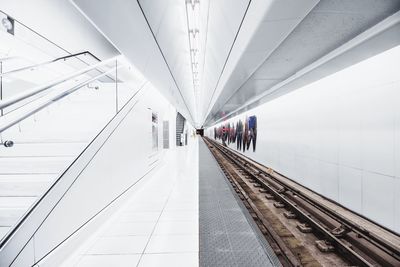
[[[281,266],[202,140],[199,153],[200,266]]]

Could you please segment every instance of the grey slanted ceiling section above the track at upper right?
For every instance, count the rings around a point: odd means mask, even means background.
[[[396,0],[319,1],[278,47],[266,56],[259,53],[259,56],[263,57],[261,65],[248,72],[247,76],[244,75],[246,76],[244,82],[232,83],[231,79],[225,84],[225,88],[222,89],[222,93],[208,114],[206,124],[211,125],[227,115],[239,114],[272,99],[270,97],[248,104],[250,99],[268,95],[269,91],[272,92],[271,89],[274,89],[274,97],[277,97],[399,44],[398,28],[392,29],[386,36],[381,36],[383,42],[371,41],[369,36],[365,38],[368,45],[355,46],[351,53],[346,51],[340,60],[331,60],[319,66],[312,75],[299,77],[291,86],[286,85],[289,77],[295,76],[300,70],[374,27],[399,9],[400,2]],[[259,34],[253,38],[250,48],[243,53],[249,55],[245,57],[247,60],[252,60],[251,55],[257,57],[252,54],[254,50],[252,47],[261,47],[268,42],[267,35],[262,34],[266,31],[266,27],[261,24],[257,31]],[[239,69],[238,73],[249,70],[245,60],[236,68]],[[283,82],[285,87],[274,88]]]

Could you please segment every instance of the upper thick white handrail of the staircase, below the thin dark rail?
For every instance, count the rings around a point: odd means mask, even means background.
[[[6,108],[8,106],[11,106],[11,105],[13,105],[15,103],[18,103],[18,102],[20,102],[22,100],[25,100],[25,99],[27,99],[27,98],[29,98],[31,96],[34,96],[34,95],[37,95],[37,94],[39,94],[39,93],[41,93],[43,91],[46,91],[46,90],[48,90],[48,89],[50,89],[50,88],[52,88],[52,87],[54,87],[56,85],[59,85],[59,84],[65,82],[65,81],[68,81],[68,80],[70,80],[72,78],[78,77],[78,76],[80,76],[80,75],[82,75],[82,74],[84,74],[86,72],[89,72],[89,71],[92,71],[92,70],[94,70],[96,68],[99,68],[101,66],[107,65],[110,62],[118,60],[119,57],[120,56],[116,56],[116,57],[104,60],[104,61],[102,61],[100,63],[94,64],[94,65],[91,65],[91,66],[89,66],[87,68],[84,68],[82,70],[73,72],[73,73],[71,73],[69,75],[66,75],[66,76],[64,76],[62,78],[59,78],[59,79],[56,79],[54,81],[48,82],[48,83],[46,83],[44,85],[36,86],[36,87],[34,87],[33,89],[31,89],[31,90],[29,90],[27,92],[22,92],[21,94],[18,94],[18,95],[14,96],[14,97],[11,97],[11,98],[6,99],[6,100],[2,100],[2,101],[0,101],[0,109],[4,109],[4,108]],[[104,73],[102,73],[102,74],[104,74]],[[102,76],[105,76],[105,75],[101,75],[101,77]]]

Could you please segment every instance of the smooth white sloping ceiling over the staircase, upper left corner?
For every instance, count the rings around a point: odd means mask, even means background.
[[[76,53],[87,50],[100,59],[119,54],[118,50],[100,32],[96,31],[69,1],[0,0],[0,7],[1,11],[53,42],[52,45],[48,43],[44,45],[38,37],[30,36],[30,43],[40,44],[40,48],[47,54],[62,56],[66,52]],[[55,48],[54,44],[59,48]]]

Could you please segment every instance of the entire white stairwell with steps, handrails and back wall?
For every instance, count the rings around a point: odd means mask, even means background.
[[[2,12],[0,21],[4,242],[144,79],[121,57],[100,61],[89,51],[71,55]]]

